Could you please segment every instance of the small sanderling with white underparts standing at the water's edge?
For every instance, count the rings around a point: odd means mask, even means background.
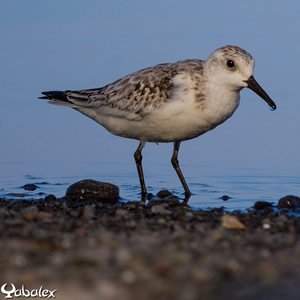
[[[206,61],[188,59],[129,74],[101,88],[43,92],[41,99],[78,110],[111,133],[139,140],[134,153],[144,201],[147,196],[142,149],[146,142],[174,143],[172,165],[191,196],[179,167],[182,141],[215,128],[239,106],[248,87],[274,110],[276,104],[253,77],[254,59],[237,46],[214,51]]]

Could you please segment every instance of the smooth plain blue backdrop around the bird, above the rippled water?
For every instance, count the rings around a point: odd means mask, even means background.
[[[182,144],[182,164],[299,175],[299,1],[0,0],[0,175],[26,164],[130,161],[138,142],[80,113],[38,100],[41,91],[101,87],[158,63],[206,59],[238,45],[276,102],[249,89],[232,118]],[[145,164],[169,163],[172,145],[149,144]],[[71,172],[71,170],[70,170]],[[27,174],[26,173],[26,174]]]

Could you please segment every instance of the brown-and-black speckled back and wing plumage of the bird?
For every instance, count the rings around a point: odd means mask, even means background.
[[[112,116],[141,120],[172,98],[172,93],[177,88],[172,79],[183,72],[193,77],[195,90],[199,91],[197,101],[201,100],[201,60],[160,64],[129,74],[102,88],[65,91],[65,95],[72,107],[79,111],[81,106],[93,109],[102,107]],[[57,100],[54,103],[57,104]]]

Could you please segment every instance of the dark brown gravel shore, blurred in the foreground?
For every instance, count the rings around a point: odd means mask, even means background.
[[[228,213],[49,195],[0,200],[0,228],[0,284],[57,299],[299,299],[300,220],[268,203]]]

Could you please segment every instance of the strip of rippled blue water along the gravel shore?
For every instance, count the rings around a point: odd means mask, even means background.
[[[179,197],[183,190],[169,164],[144,166],[148,191],[156,194],[169,189]],[[262,170],[224,170],[208,166],[183,165],[187,182],[193,193],[189,204],[194,208],[224,206],[232,209],[250,208],[256,201],[276,203],[282,196],[300,194],[300,176],[266,174]],[[67,187],[82,179],[111,182],[119,186],[123,200],[139,199],[139,181],[133,162],[107,164],[2,164],[0,197],[39,199],[47,194],[64,195]],[[38,189],[30,192],[22,186],[35,183]],[[223,201],[223,195],[232,199]]]

